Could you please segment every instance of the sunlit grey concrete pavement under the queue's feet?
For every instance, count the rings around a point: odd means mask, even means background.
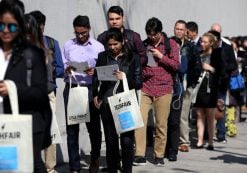
[[[244,115],[247,117],[246,115]],[[169,162],[165,159],[164,167],[152,164],[152,148],[147,149],[146,166],[133,167],[133,173],[246,173],[247,172],[247,122],[237,123],[238,135],[227,138],[227,143],[215,142],[214,151],[206,149],[190,149],[189,152],[179,152],[177,162]],[[191,130],[191,139],[195,129]],[[104,144],[103,144],[104,145]],[[105,166],[105,150],[102,150],[101,165]],[[89,156],[83,156],[82,170],[86,173]],[[86,160],[86,161],[85,161]],[[57,166],[59,173],[68,173],[68,164]]]

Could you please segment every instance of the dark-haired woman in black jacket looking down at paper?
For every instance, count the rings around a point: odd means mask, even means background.
[[[130,89],[141,89],[140,59],[123,45],[123,35],[120,29],[109,29],[106,40],[108,50],[99,54],[96,67],[118,64],[119,70],[114,72],[114,76],[118,80],[121,80],[117,92],[123,92],[122,79],[124,73],[126,74]],[[107,98],[113,95],[113,88],[116,81],[101,81],[101,85],[99,85],[97,73],[95,73],[93,80],[94,103],[95,106],[100,109],[105,132],[108,171],[110,173],[116,173],[120,168],[118,134],[107,101]],[[98,90],[99,86],[100,88]],[[120,135],[120,144],[122,149],[121,158],[123,172],[131,173],[134,156],[134,131],[122,133]]]

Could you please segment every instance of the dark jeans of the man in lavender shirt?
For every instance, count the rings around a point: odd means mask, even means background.
[[[64,96],[66,117],[67,117],[68,94],[69,94],[69,87],[65,86],[63,96]],[[91,142],[91,161],[94,161],[100,157],[102,134],[101,134],[99,110],[94,106],[93,101],[90,102],[89,109],[90,109],[90,122],[86,123],[86,127]],[[67,130],[67,145],[68,145],[70,170],[79,171],[80,170],[79,124],[67,125],[67,118],[66,118],[66,130]]]

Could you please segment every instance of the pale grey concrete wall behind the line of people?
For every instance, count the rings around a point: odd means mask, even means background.
[[[223,26],[223,35],[247,35],[244,11],[246,0],[23,0],[26,12],[41,10],[47,16],[45,33],[58,39],[60,46],[74,37],[72,21],[78,14],[88,15],[91,20],[91,35],[107,29],[105,13],[112,5],[120,5],[125,11],[125,24],[146,37],[144,27],[150,17],[158,17],[163,22],[164,31],[173,35],[176,20],[196,21],[199,34],[209,30],[212,23]],[[62,134],[58,161],[68,161],[65,118],[63,108],[63,81],[58,80],[57,119]],[[81,125],[80,145],[82,152],[89,154],[90,143],[84,124]],[[83,142],[82,142],[83,141]]]

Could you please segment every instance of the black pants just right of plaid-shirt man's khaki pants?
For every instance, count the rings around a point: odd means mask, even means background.
[[[179,136],[180,136],[180,116],[183,104],[183,98],[180,98],[180,107],[178,105],[178,96],[174,96],[171,102],[170,115],[168,117],[167,124],[167,144],[166,144],[166,156],[171,154],[178,154]],[[174,107],[175,106],[175,107]]]

